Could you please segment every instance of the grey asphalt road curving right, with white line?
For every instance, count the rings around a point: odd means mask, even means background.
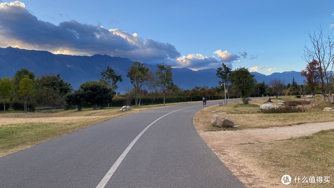
[[[0,187],[245,188],[197,134],[202,108],[147,110],[1,157]]]

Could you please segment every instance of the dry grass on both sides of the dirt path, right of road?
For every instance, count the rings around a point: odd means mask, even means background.
[[[307,99],[307,98],[306,98]],[[333,104],[322,103],[320,97],[311,98],[311,104],[302,105],[300,107],[308,109],[308,112],[304,113],[282,113],[282,114],[264,114],[260,113],[260,105],[265,102],[266,99],[252,100],[250,104],[243,105],[242,102],[231,102],[223,106],[213,106],[204,108],[196,113],[194,117],[194,124],[197,131],[236,131],[254,128],[271,128],[271,127],[283,127],[294,126],[305,123],[318,123],[334,121],[333,112],[322,111],[325,107],[334,108]],[[302,100],[293,97],[290,98],[273,98],[273,104],[276,106],[277,101],[293,101]],[[222,117],[232,119],[235,125],[240,125],[234,128],[221,128],[211,125],[212,111],[225,112],[227,114],[217,114]],[[216,138],[219,139],[219,138]],[[220,139],[224,139],[221,137]],[[208,143],[209,146],[213,146],[218,140]],[[291,138],[287,140],[277,140],[270,142],[252,142],[246,144],[237,144],[229,146],[232,150],[227,150],[226,153],[224,146],[212,147],[218,151],[218,156],[222,161],[228,161],[231,156],[239,156],[245,159],[239,161],[242,165],[248,166],[253,172],[261,173],[266,179],[270,179],[271,182],[275,181],[275,185],[269,185],[268,187],[334,187],[334,129],[320,131],[312,136],[302,136]],[[238,158],[238,157],[237,157]],[[234,163],[235,164],[235,163]],[[249,165],[251,164],[251,165]],[[233,168],[233,164],[228,167]],[[235,167],[234,170],[242,171],[243,169]],[[252,169],[253,168],[253,169]],[[233,170],[232,170],[233,171]],[[263,173],[263,174],[262,174]],[[283,185],[281,183],[281,177],[288,174],[292,177],[292,183],[290,185]],[[240,173],[238,174],[240,175]],[[244,173],[242,176],[245,176]],[[314,180],[316,183],[302,183],[302,179],[307,178],[310,182]],[[298,177],[301,179],[298,183]],[[330,182],[319,183],[320,178],[325,179],[330,177]],[[297,183],[295,183],[295,178]],[[318,178],[318,183],[317,183]],[[304,180],[305,181],[305,180]],[[324,182],[324,181],[322,181]],[[245,181],[248,187],[258,187],[254,182]],[[262,185],[263,186],[263,185]],[[260,186],[261,187],[261,186]]]

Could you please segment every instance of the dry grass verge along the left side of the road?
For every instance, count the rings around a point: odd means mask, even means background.
[[[184,103],[172,103],[166,106],[179,104]],[[125,112],[120,111],[120,108],[55,110],[26,114],[0,112],[0,157],[109,119],[161,107],[164,106],[132,107],[132,110]]]

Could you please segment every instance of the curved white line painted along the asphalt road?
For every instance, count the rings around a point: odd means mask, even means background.
[[[202,105],[196,105],[196,106],[202,106]],[[187,108],[191,108],[191,107],[195,107],[195,106],[190,106]],[[182,108],[179,110],[183,110],[186,108]],[[175,110],[173,112],[179,111],[179,110]],[[159,119],[173,113],[170,112],[168,114],[165,114],[161,117],[159,117],[158,119],[156,119],[155,121],[153,121],[151,124],[149,124],[141,133],[139,133],[139,135],[130,143],[130,145],[124,150],[124,152],[121,154],[121,156],[116,160],[116,162],[113,164],[113,166],[109,169],[109,171],[107,172],[107,174],[103,177],[103,179],[100,181],[100,183],[98,184],[98,186],[96,186],[96,188],[104,188],[106,186],[106,184],[108,183],[108,181],[110,180],[111,176],[114,174],[114,172],[116,171],[117,167],[121,164],[121,162],[123,161],[123,159],[125,158],[125,156],[129,153],[130,149],[132,148],[132,146],[137,142],[137,140],[144,134],[144,132],[151,127],[151,125],[153,125],[155,122],[157,122]]]

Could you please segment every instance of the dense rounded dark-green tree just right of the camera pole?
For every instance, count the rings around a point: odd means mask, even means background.
[[[246,98],[254,91],[256,79],[254,75],[249,73],[245,67],[237,68],[231,72],[229,78],[231,79],[232,88],[240,94],[242,103],[247,104]]]

